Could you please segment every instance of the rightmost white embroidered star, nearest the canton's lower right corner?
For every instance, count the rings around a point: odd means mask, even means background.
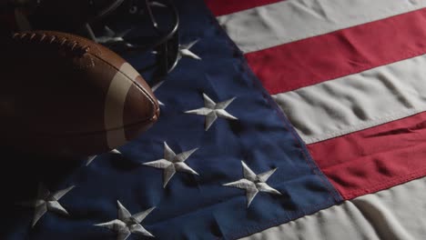
[[[270,187],[266,181],[269,177],[277,171],[278,168],[269,170],[268,172],[256,175],[248,165],[241,161],[243,165],[244,178],[239,179],[238,181],[228,183],[225,186],[237,187],[240,189],[246,190],[247,196],[247,207],[251,204],[251,201],[258,195],[259,192],[265,192],[273,195],[282,195],[278,190]]]

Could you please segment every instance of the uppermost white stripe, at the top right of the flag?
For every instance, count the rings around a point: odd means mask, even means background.
[[[426,0],[287,0],[218,16],[218,22],[250,53],[425,6]]]

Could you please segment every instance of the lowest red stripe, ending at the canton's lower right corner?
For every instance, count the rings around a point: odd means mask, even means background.
[[[308,145],[345,199],[426,175],[426,113]]]

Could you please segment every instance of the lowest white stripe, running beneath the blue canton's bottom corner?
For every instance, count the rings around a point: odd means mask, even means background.
[[[426,177],[269,228],[257,239],[424,239]]]

